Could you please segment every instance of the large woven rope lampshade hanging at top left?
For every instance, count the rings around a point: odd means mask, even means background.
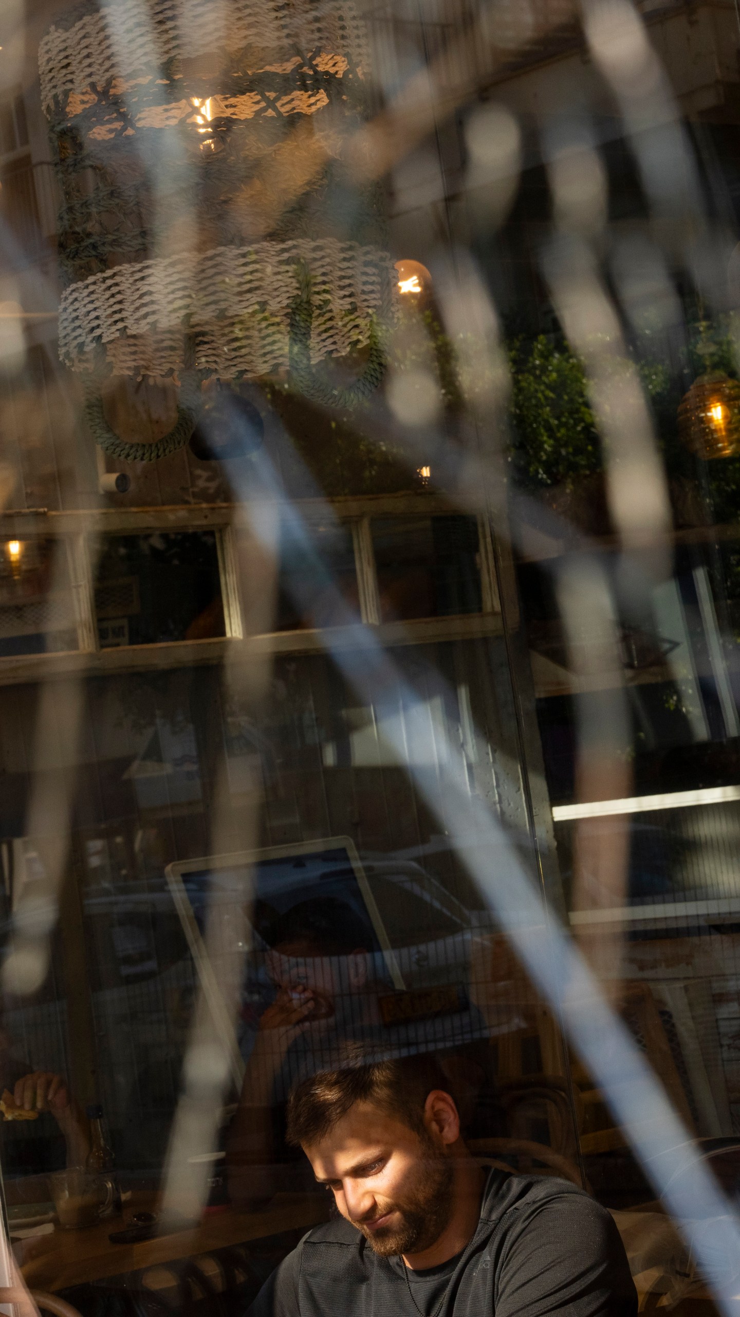
[[[341,161],[366,119],[366,67],[350,0],[84,3],[46,33],[59,352],[112,456],[184,445],[205,381],[287,369],[307,396],[342,406],[379,383],[398,275],[379,190]],[[324,358],[357,353],[359,377],[332,383]],[[178,383],[174,428],[120,440],[103,415],[111,375]]]

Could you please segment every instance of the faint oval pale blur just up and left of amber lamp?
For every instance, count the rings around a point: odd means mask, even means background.
[[[611,274],[624,312],[637,333],[657,333],[683,320],[662,253],[644,236],[618,238]]]

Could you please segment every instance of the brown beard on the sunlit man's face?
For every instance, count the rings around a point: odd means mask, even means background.
[[[377,1221],[387,1212],[395,1212],[400,1216],[400,1222],[381,1226],[379,1230],[369,1230],[363,1221],[352,1222],[381,1258],[424,1252],[436,1243],[452,1217],[454,1166],[431,1139],[424,1139],[424,1150],[425,1158],[420,1163],[416,1184],[410,1187],[402,1201],[379,1208],[370,1218]]]

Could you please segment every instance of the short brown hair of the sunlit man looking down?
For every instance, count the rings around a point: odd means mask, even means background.
[[[432,1089],[450,1092],[436,1056],[403,1056],[396,1060],[349,1060],[333,1071],[304,1079],[287,1105],[287,1142],[309,1147],[324,1139],[356,1102],[373,1102],[424,1134],[424,1104]]]

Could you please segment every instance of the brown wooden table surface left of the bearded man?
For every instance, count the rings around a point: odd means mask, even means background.
[[[151,1195],[134,1195],[132,1202],[126,1202],[126,1220],[130,1220],[132,1212],[150,1208],[151,1200]],[[263,1239],[283,1230],[308,1230],[325,1221],[328,1214],[329,1202],[321,1195],[278,1193],[262,1212],[225,1208],[190,1230],[130,1245],[111,1243],[108,1235],[122,1230],[125,1223],[120,1217],[112,1217],[83,1230],[57,1229],[54,1234],[26,1241],[21,1271],[29,1289],[53,1292],[178,1258],[198,1256],[249,1239]]]

